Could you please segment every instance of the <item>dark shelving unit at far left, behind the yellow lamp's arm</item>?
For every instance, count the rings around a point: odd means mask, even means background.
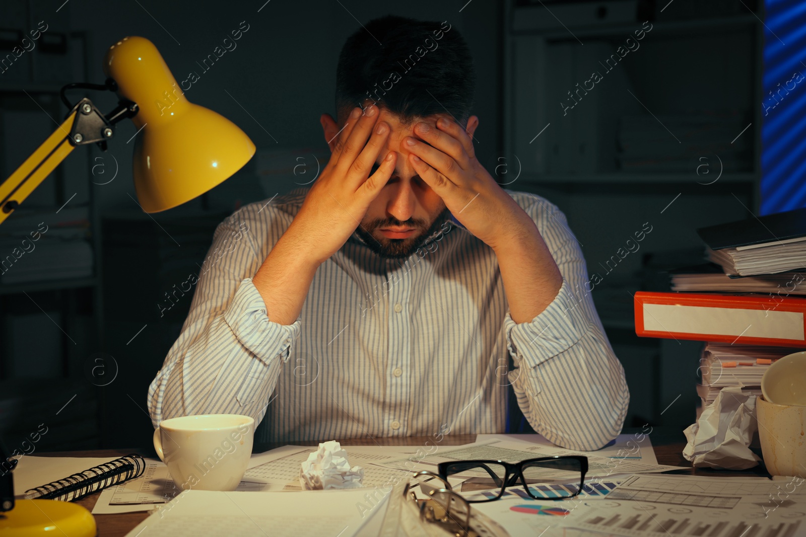
[[[44,2],[22,3],[27,9],[19,11],[19,20],[7,20],[6,27],[23,31],[35,27],[31,19],[45,9]],[[69,31],[70,10],[67,4],[58,14],[48,15],[48,34],[65,36],[64,51],[47,56],[39,48],[27,52],[0,81],[0,180],[52,133],[53,118],[67,113],[59,98],[61,87],[87,79],[89,38],[85,32]],[[102,236],[90,149],[77,148],[0,225],[7,247],[0,254],[5,256],[11,254],[11,246],[19,246],[29,231],[36,230],[30,222],[47,222],[44,238],[20,258],[21,263],[29,257],[33,262],[52,236],[53,242],[59,238],[62,244],[76,245],[69,246],[66,258],[73,258],[74,252],[87,254],[85,244],[79,246],[84,241],[93,256],[90,276],[0,283],[0,436],[15,444],[44,422],[49,431],[37,448],[100,445],[98,390],[102,388],[93,386],[86,371],[87,360],[102,349],[103,328]],[[13,269],[19,270],[26,269]]]

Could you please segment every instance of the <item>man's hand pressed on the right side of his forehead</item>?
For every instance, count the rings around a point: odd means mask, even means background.
[[[467,131],[446,118],[439,118],[437,127],[418,123],[413,134],[426,143],[407,137],[401,145],[411,151],[409,160],[414,170],[453,216],[493,250],[518,235],[533,233],[536,229],[529,215],[476,159]]]

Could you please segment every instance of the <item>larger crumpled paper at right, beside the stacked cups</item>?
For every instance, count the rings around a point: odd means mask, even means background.
[[[686,460],[696,468],[744,470],[758,465],[761,459],[749,447],[758,428],[755,403],[755,395],[742,393],[741,387],[722,388],[700,419],[683,431]]]

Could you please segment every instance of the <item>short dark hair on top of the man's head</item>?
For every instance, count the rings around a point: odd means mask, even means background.
[[[475,90],[470,49],[447,21],[372,19],[347,38],[336,69],[340,124],[370,99],[404,124],[447,111],[465,125]]]

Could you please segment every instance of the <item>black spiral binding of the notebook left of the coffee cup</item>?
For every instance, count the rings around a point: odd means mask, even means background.
[[[146,462],[142,456],[130,453],[83,472],[73,473],[64,479],[28,489],[25,491],[25,498],[74,502],[99,490],[140,477],[145,467]]]

